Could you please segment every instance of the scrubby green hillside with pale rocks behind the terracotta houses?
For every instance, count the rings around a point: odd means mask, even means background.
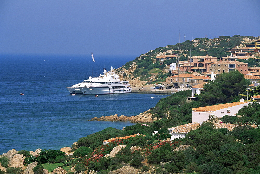
[[[258,40],[254,36],[219,36],[219,38],[196,38],[192,42],[187,40],[180,43],[180,61],[188,60],[191,56],[205,56],[206,54],[222,58],[229,56],[231,48],[245,47],[245,44],[254,43]],[[191,44],[190,44],[191,43]],[[190,51],[191,50],[191,51]],[[155,63],[158,55],[178,54],[178,43],[176,45],[168,45],[156,48],[145,54],[136,57],[134,60],[127,62],[122,67],[116,69],[120,79],[128,80],[132,86],[141,86],[165,80],[168,73],[163,70],[166,64],[176,63],[176,58],[164,61],[163,63]]]

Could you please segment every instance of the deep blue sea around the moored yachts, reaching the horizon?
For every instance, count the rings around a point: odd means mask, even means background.
[[[138,115],[167,95],[70,95],[66,87],[118,68],[135,56],[0,54],[0,155],[16,149],[60,149],[107,127],[130,122],[90,121]],[[20,95],[20,94],[24,95]],[[151,99],[154,97],[154,99]]]

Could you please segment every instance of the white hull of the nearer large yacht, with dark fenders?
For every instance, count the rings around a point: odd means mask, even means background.
[[[97,94],[124,94],[131,93],[132,88],[80,88],[84,95],[97,95]]]

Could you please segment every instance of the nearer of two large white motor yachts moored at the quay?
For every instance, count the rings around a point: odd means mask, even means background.
[[[97,78],[89,77],[89,80],[91,83],[89,81],[89,83],[82,83],[77,87],[84,95],[123,94],[132,92],[128,81],[120,81],[119,76],[112,72],[112,68],[108,72],[104,68],[103,74],[100,74]],[[82,87],[83,85],[84,87]]]

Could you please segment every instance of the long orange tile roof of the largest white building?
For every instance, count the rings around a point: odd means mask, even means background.
[[[249,103],[249,102],[233,102],[233,103],[217,104],[212,106],[193,108],[192,110],[195,112],[214,112],[216,110],[225,109],[225,108],[229,108],[229,107],[233,107],[245,103]]]

